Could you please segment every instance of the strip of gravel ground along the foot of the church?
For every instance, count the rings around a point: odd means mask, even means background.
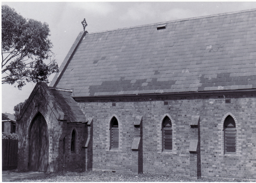
[[[256,179],[237,179],[237,178],[220,178],[220,177],[202,177],[196,179],[195,177],[182,175],[166,175],[166,174],[129,174],[129,173],[112,173],[103,171],[87,171],[87,172],[67,172],[42,174],[36,177],[20,178],[15,181],[22,182],[241,182],[241,181],[256,181]]]

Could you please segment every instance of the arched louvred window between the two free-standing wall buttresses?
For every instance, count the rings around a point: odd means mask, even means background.
[[[172,131],[172,122],[166,116],[162,122],[162,145],[163,150],[172,150],[173,149],[173,131]]]

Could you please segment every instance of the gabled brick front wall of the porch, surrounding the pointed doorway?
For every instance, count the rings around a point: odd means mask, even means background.
[[[42,96],[40,89],[37,91],[33,99],[29,102],[28,107],[22,114],[21,118],[17,120],[17,134],[18,134],[18,168],[29,169],[29,130],[31,122],[40,112],[44,116],[49,134],[49,157],[47,171],[61,170],[60,157],[59,157],[59,138],[62,134],[63,122],[57,120],[52,112],[45,96]]]

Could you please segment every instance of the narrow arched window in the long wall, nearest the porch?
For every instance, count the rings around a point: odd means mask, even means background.
[[[113,117],[110,122],[110,148],[118,148],[119,146],[119,129],[118,120]]]

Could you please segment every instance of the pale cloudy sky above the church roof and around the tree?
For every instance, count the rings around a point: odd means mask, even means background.
[[[74,40],[83,31],[86,18],[89,33],[129,28],[157,22],[179,20],[256,8],[256,2],[2,2],[24,18],[46,22],[60,66]],[[52,80],[55,74],[49,77]],[[19,90],[2,85],[2,112],[14,113],[14,106],[27,99],[35,87],[27,83]]]

